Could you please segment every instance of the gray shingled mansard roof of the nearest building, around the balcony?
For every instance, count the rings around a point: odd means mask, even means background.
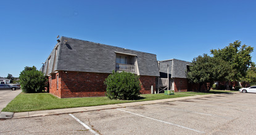
[[[67,41],[67,44],[64,44],[65,41]],[[54,64],[56,47],[57,54]],[[115,69],[115,52],[121,52],[137,56],[139,75],[159,76],[156,55],[151,53],[82,41],[70,37],[61,37],[56,47],[48,56],[45,67],[41,68],[44,69],[44,74],[50,74],[54,71],[112,73]]]

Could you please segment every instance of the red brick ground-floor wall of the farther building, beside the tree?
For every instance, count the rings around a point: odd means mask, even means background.
[[[175,78],[173,82],[175,92],[188,91],[188,79]]]

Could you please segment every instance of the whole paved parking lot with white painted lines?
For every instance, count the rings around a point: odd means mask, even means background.
[[[256,94],[1,120],[0,134],[256,134]]]

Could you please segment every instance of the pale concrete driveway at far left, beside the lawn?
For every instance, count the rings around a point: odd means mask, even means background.
[[[0,112],[12,99],[19,95],[22,90],[0,90]]]

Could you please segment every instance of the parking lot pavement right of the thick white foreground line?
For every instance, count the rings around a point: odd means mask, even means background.
[[[217,95],[73,115],[101,134],[256,134],[255,96]]]

